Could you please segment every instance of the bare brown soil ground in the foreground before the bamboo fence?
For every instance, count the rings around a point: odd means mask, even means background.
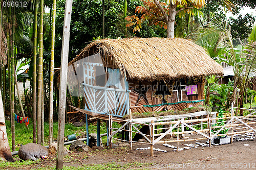
[[[204,142],[201,140],[199,142]],[[195,143],[196,141],[190,142]],[[185,147],[188,142],[180,142],[179,147]],[[169,143],[176,145],[176,143]],[[249,144],[245,146],[244,144]],[[198,147],[179,152],[173,151],[164,145],[157,144],[155,148],[167,152],[154,151],[154,157],[150,156],[150,150],[136,150],[149,145],[133,144],[133,150],[129,150],[129,143],[120,143],[116,149],[97,149],[91,152],[72,152],[65,156],[64,165],[82,166],[84,164],[127,164],[132,162],[143,163],[142,166],[126,169],[256,169],[256,141],[234,141],[233,144]],[[101,148],[102,149],[102,148]],[[50,155],[36,165],[28,165],[22,169],[33,169],[56,166],[56,155]],[[9,168],[8,168],[9,169]]]

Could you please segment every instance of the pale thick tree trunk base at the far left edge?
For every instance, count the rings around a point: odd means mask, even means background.
[[[8,161],[13,161],[6,133],[5,112],[3,107],[2,95],[0,96],[0,143],[0,157]]]

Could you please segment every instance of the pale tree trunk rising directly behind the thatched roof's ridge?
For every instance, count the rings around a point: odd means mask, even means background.
[[[176,16],[176,4],[170,4],[169,17],[167,24],[167,38],[174,38],[174,25],[175,25],[175,16]]]

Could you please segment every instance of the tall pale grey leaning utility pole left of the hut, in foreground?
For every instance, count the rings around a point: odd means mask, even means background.
[[[65,131],[65,111],[66,111],[66,95],[67,95],[67,70],[69,58],[69,37],[70,37],[70,22],[72,12],[72,0],[66,1],[62,50],[61,50],[61,65],[60,65],[60,84],[59,84],[59,121],[58,121],[58,148],[57,148],[57,169],[63,168],[63,148],[64,148],[64,131]]]

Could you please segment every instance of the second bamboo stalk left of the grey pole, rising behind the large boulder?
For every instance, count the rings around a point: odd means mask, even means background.
[[[42,131],[42,34],[43,34],[43,20],[44,20],[44,0],[40,0],[40,23],[39,23],[39,57],[38,57],[38,85],[37,85],[37,143],[41,144]]]

